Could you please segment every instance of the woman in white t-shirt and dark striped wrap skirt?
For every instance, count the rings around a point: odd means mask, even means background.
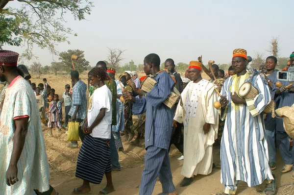
[[[111,180],[109,140],[111,136],[111,100],[112,95],[104,84],[106,73],[103,69],[93,68],[88,73],[90,84],[97,89],[89,99],[87,120],[83,126],[86,134],[77,157],[75,176],[84,180],[83,185],[75,188],[74,193],[91,192],[90,183],[99,184],[103,175],[107,176],[107,185],[99,194],[114,191]]]

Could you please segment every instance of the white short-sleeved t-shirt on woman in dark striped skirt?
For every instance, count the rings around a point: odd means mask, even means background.
[[[96,89],[89,99],[88,126],[91,126],[95,121],[100,109],[106,108],[106,113],[102,121],[93,128],[90,134],[94,138],[110,139],[112,122],[111,100],[112,95],[106,85]]]

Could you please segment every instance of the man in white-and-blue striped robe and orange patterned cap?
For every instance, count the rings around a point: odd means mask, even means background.
[[[226,118],[221,140],[222,195],[236,194],[239,181],[247,182],[249,187],[265,181],[265,194],[273,195],[275,182],[262,114],[270,103],[270,90],[260,75],[254,75],[251,84],[258,95],[252,99],[239,97],[241,85],[249,80],[246,64],[246,50],[235,49],[232,66],[237,74],[226,79],[221,90],[221,118]]]

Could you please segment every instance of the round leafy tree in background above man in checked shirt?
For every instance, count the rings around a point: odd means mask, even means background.
[[[67,73],[70,73],[73,70],[72,65],[72,55],[77,55],[78,59],[73,61],[75,70],[77,70],[79,73],[82,73],[87,70],[87,67],[89,66],[89,61],[87,61],[84,56],[84,51],[81,51],[79,49],[68,51],[63,51],[59,53],[59,59],[61,60],[63,70]]]

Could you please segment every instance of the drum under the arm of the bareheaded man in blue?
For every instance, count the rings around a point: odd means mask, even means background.
[[[151,89],[152,89],[156,84],[157,84],[157,82],[156,82],[153,78],[147,76],[147,77],[143,80],[143,82],[141,83],[140,89],[143,90],[143,91],[145,91],[146,93],[148,93],[148,92],[151,91]],[[164,103],[166,106],[168,106],[169,108],[172,109],[172,107],[178,102],[178,100],[179,100],[180,97],[181,97],[180,94],[176,94],[176,93],[174,93],[174,92],[171,92],[171,94],[169,95],[169,97],[168,97],[166,100],[164,100],[163,103]]]

